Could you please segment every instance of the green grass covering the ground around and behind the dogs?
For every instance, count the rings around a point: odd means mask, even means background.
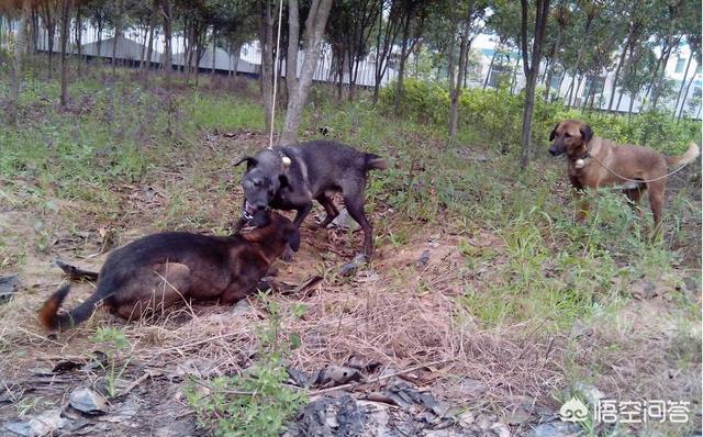
[[[232,222],[243,171],[232,164],[268,141],[261,105],[246,97],[252,85],[242,86],[246,92],[238,94],[220,92],[207,80],[198,91],[179,83],[164,92],[133,87],[129,72],[123,75],[112,82],[94,70],[74,82],[68,110],[56,108],[55,82],[29,76],[22,93],[26,116],[14,128],[0,127],[0,199],[2,211],[32,220],[24,227],[0,223],[0,272],[24,269],[27,257],[48,257],[59,235],[86,228],[224,233]],[[435,233],[456,236],[447,249],[449,259],[456,256],[456,268],[419,274],[412,270],[415,259],[383,267],[392,280],[376,296],[379,302],[401,299],[405,289],[412,290],[412,299],[435,299],[440,294],[437,284],[448,277],[446,288],[456,290],[449,295],[455,317],[448,318],[460,321],[456,323],[470,322],[495,336],[533,333],[535,344],[565,338],[553,358],[561,371],[561,389],[587,381],[622,395],[639,390],[652,396],[685,396],[676,385],[687,386],[685,381],[668,388],[648,378],[670,367],[688,369],[685,374],[700,370],[700,292],[680,287],[681,277],[700,273],[698,188],[671,188],[676,194],[667,208],[667,237],[652,242],[646,237],[650,217],[646,212],[639,217],[615,191],[599,193],[588,222],[576,223],[562,163],[538,154],[523,173],[517,150],[500,154],[496,145],[477,139],[482,135],[471,125],[464,124],[458,141],[449,144],[442,125],[379,115],[364,96],[337,104],[325,89],[313,92],[303,125],[302,139],[316,138],[316,127],[331,126],[333,138],[389,159],[389,169],[371,172],[367,188],[367,210],[375,212],[376,243],[384,258],[424,248]],[[699,168],[692,171],[700,175]],[[315,262],[310,273],[324,273],[325,283],[333,283],[327,278],[334,257],[322,254]],[[639,304],[628,291],[643,277],[667,287],[666,310],[652,310],[649,318],[633,313]],[[354,288],[348,282],[334,287]],[[361,305],[354,296],[338,299],[320,311],[342,311],[342,321]],[[311,306],[293,303],[303,304]],[[274,313],[268,312],[269,323]],[[676,328],[669,330],[671,324]],[[594,334],[587,339],[571,336],[582,326]],[[3,343],[0,350],[9,347]],[[275,372],[282,358],[267,360],[274,349],[258,361],[259,370],[272,372],[267,380],[241,376],[234,382],[212,382],[211,391],[276,391],[282,376]],[[650,350],[667,355],[643,355]],[[629,357],[641,357],[650,368]],[[613,373],[610,366],[621,361],[634,367],[637,381]],[[562,394],[553,399],[562,400]],[[203,397],[193,385],[190,401],[197,410],[227,410],[226,397],[213,406],[213,397]],[[236,408],[263,411],[249,401],[237,400]],[[298,404],[293,397],[281,399],[276,405],[284,407],[267,414],[278,421]],[[265,421],[252,429],[269,425]]]

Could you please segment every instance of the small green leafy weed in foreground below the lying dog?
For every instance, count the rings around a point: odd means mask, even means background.
[[[216,436],[279,436],[286,422],[306,402],[303,392],[284,384],[288,373],[283,361],[300,346],[300,336],[282,335],[280,305],[263,299],[270,317],[258,334],[257,361],[242,374],[193,380],[186,389],[200,425]],[[304,313],[304,305],[291,309],[294,317]]]

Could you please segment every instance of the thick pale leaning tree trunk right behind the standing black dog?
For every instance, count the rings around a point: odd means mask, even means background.
[[[332,0],[313,0],[312,8],[305,20],[305,51],[300,79],[293,93],[289,93],[286,122],[282,135],[283,144],[298,141],[298,131],[302,120],[302,111],[308,92],[312,85],[313,72],[320,59],[320,51],[325,25],[332,9]]]

